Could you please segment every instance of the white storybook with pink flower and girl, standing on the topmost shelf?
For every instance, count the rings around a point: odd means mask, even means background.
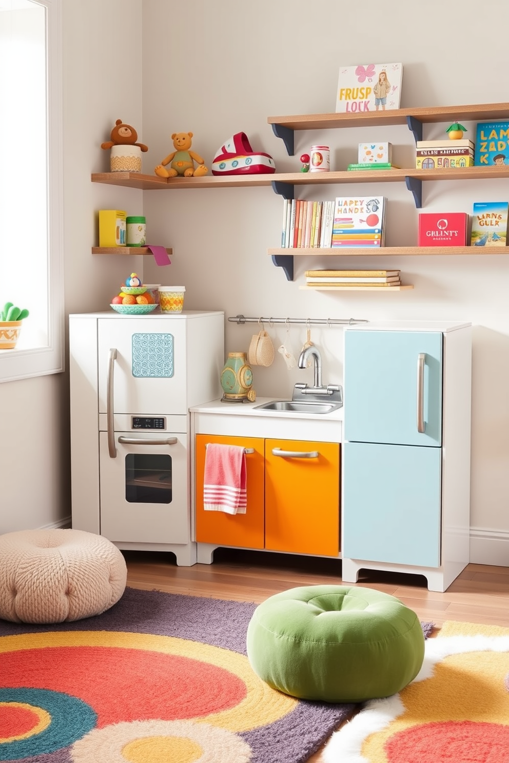
[[[340,66],[336,111],[385,111],[399,108],[401,63],[366,63]]]

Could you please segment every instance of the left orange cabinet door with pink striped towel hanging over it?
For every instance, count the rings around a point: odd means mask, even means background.
[[[203,478],[205,473],[205,446],[207,443],[241,445],[254,449],[246,454],[247,507],[245,514],[227,514],[223,511],[205,511],[203,508]],[[259,437],[227,437],[198,434],[195,440],[196,467],[196,540],[216,543],[218,546],[242,546],[263,549],[264,511],[263,494],[265,472],[263,443]]]

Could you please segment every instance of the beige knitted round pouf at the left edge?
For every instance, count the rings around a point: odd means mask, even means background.
[[[12,623],[65,623],[101,614],[120,599],[124,557],[83,530],[0,535],[0,617]]]

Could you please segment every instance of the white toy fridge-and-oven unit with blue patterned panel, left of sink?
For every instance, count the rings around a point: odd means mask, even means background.
[[[74,528],[195,563],[188,409],[223,362],[222,312],[69,316]]]

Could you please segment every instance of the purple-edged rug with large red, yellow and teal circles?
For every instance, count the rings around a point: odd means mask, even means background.
[[[301,763],[353,711],[253,673],[254,604],[127,588],[57,626],[0,620],[0,761]]]

